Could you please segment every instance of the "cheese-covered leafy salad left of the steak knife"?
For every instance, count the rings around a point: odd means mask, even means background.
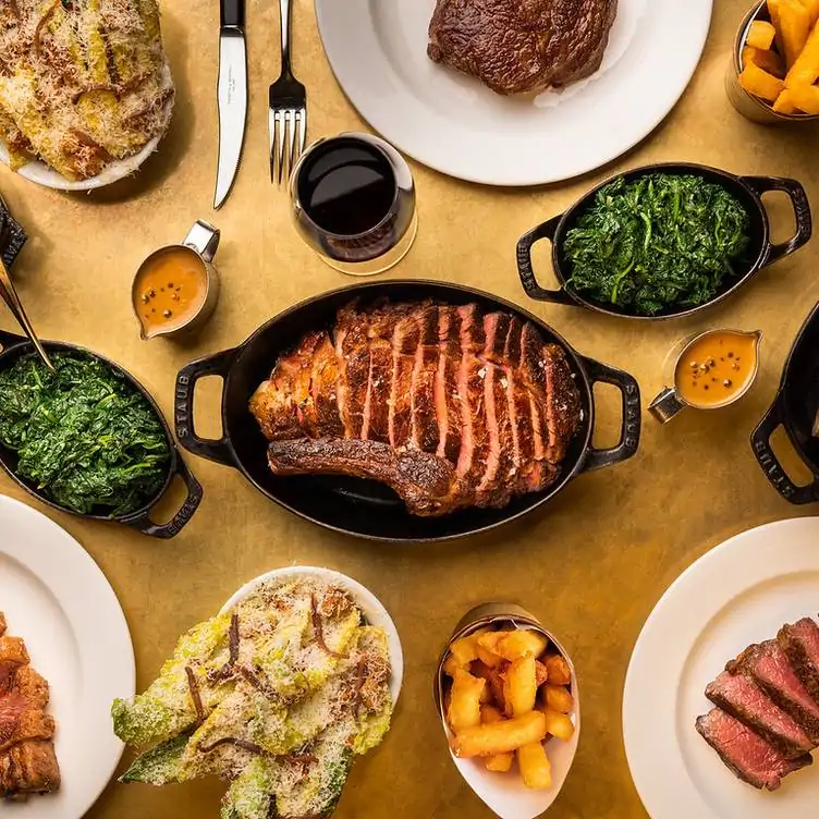
[[[41,159],[96,176],[164,133],[173,94],[156,0],[0,3],[0,138],[15,170]]]

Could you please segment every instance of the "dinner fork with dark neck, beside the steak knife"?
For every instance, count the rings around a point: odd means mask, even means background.
[[[278,175],[290,179],[293,166],[307,139],[307,91],[293,76],[290,65],[291,0],[279,0],[281,7],[282,70],[270,86],[270,181]],[[296,133],[297,132],[297,133]]]

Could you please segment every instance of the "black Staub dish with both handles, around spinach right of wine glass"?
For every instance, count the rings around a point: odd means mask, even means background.
[[[730,194],[734,195],[745,207],[750,217],[750,248],[748,250],[747,261],[738,276],[731,277],[724,282],[722,290],[706,304],[698,307],[680,307],[679,309],[668,309],[656,316],[637,316],[625,310],[620,310],[612,305],[592,302],[567,286],[571,277],[570,262],[563,253],[563,245],[566,233],[571,230],[577,219],[591,206],[597,192],[610,184],[616,179],[623,176],[627,182],[645,176],[649,173],[669,173],[675,175],[693,174],[701,176],[707,182],[721,185]],[[793,204],[796,215],[796,234],[783,244],[774,245],[771,243],[771,229],[762,204],[762,194],[771,191],[781,191],[785,193]],[[526,233],[517,243],[517,270],[523,282],[523,288],[527,295],[540,302],[554,302],[555,304],[565,304],[586,307],[597,313],[606,313],[610,316],[620,316],[621,318],[641,319],[644,321],[662,320],[669,318],[680,318],[699,313],[735,293],[739,288],[756,276],[762,268],[772,265],[779,259],[790,256],[800,247],[806,245],[812,233],[812,219],[810,216],[810,205],[808,203],[805,188],[791,179],[780,179],[777,176],[735,176],[726,171],[711,168],[704,164],[693,164],[687,162],[673,162],[668,164],[650,164],[643,168],[635,168],[624,173],[601,182],[589,193],[585,194],[582,199],[576,201],[565,213],[555,216],[548,221],[539,224],[534,230]],[[535,270],[531,261],[531,248],[541,239],[548,239],[552,244],[552,267],[554,274],[560,283],[558,290],[546,290],[541,288],[535,278]]]

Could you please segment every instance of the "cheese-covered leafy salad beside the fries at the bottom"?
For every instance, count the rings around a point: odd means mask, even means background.
[[[392,714],[387,635],[338,586],[259,586],[185,634],[160,676],[112,707],[117,735],[152,746],[123,782],[218,775],[223,819],[323,817],[356,754]]]

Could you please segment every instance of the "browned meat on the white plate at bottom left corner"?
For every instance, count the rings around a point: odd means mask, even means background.
[[[0,798],[24,799],[60,786],[48,700],[48,683],[30,667],[23,640],[5,635],[0,612]]]

